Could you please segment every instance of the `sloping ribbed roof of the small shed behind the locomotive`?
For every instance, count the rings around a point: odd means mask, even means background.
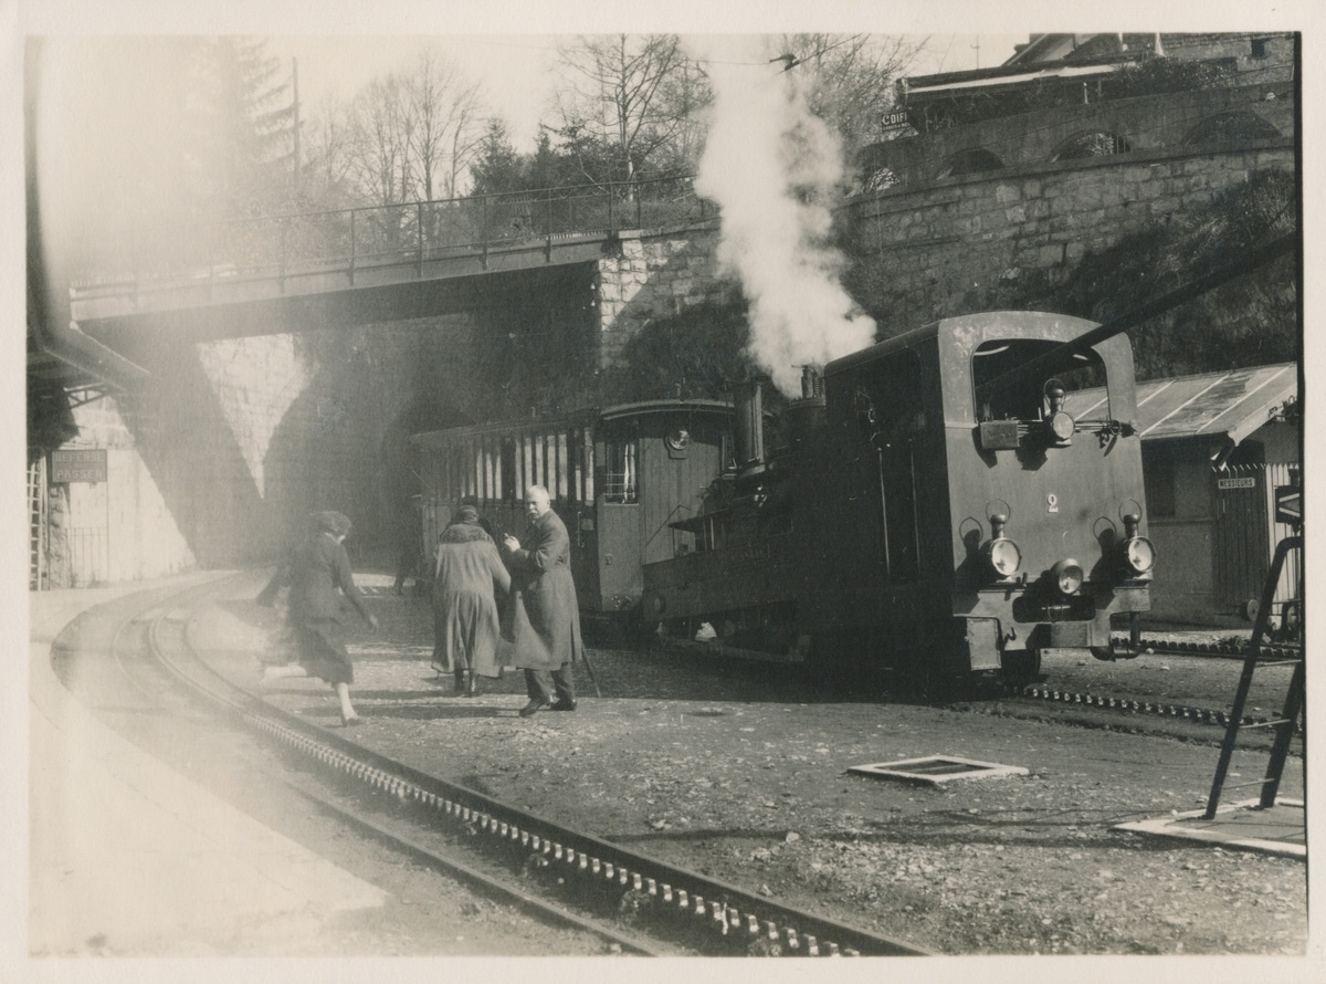
[[[1297,393],[1293,362],[1152,379],[1138,383],[1136,426],[1143,440],[1229,435],[1238,443]],[[1086,416],[1103,395],[1099,389],[1070,394],[1069,412]]]

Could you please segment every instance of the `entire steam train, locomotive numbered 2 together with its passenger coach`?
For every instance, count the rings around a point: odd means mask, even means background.
[[[1029,312],[947,318],[806,367],[781,418],[652,400],[418,435],[428,541],[463,496],[521,525],[549,488],[587,619],[827,668],[1002,671],[1136,654],[1144,536],[1126,336]],[[768,451],[766,451],[768,439]],[[1131,618],[1132,645],[1115,646]]]

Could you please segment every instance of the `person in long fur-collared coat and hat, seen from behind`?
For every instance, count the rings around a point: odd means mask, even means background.
[[[505,595],[511,590],[511,574],[472,505],[460,507],[438,537],[432,573],[432,666],[438,672],[453,672],[456,692],[473,696],[476,675],[501,676],[497,591]]]

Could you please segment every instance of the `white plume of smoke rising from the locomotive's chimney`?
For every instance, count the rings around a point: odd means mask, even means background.
[[[804,76],[770,62],[769,45],[765,36],[691,44],[715,93],[695,184],[723,211],[719,260],[751,305],[751,357],[800,395],[798,366],[870,345],[875,322],[843,290],[845,259],[829,243],[838,141],[812,115]]]

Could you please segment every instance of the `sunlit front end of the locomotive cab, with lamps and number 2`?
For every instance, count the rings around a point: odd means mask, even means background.
[[[1136,635],[1155,564],[1127,338],[1077,347],[1093,325],[1041,321],[1026,337],[994,318],[949,365],[972,394],[972,426],[952,420],[949,442],[953,610],[969,658],[997,652],[1018,682],[1045,650],[1135,655],[1111,623],[1131,615]]]

